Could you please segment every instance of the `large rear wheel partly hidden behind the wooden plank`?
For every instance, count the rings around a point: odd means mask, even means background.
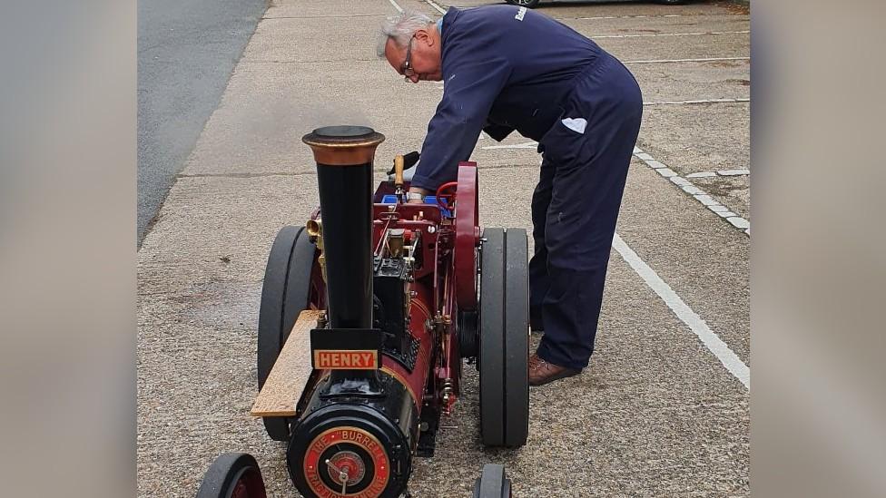
[[[259,389],[271,374],[301,311],[324,305],[316,252],[307,230],[297,227],[283,227],[271,246],[259,308]],[[286,418],[264,417],[263,421],[271,439],[289,441]]]

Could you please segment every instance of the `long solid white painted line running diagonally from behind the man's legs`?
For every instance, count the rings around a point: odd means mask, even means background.
[[[653,289],[659,298],[662,298],[662,300],[665,301],[665,305],[667,305],[668,308],[671,308],[671,311],[674,311],[674,315],[680,318],[684,324],[692,329],[695,336],[702,341],[702,344],[704,344],[711,353],[714,353],[714,356],[720,360],[720,363],[726,367],[726,370],[729,370],[729,372],[750,391],[751,368],[744,365],[742,359],[735,355],[733,350],[723,342],[723,339],[714,334],[714,331],[711,330],[711,327],[708,327],[702,317],[699,317],[692,308],[689,308],[684,300],[674,292],[674,289],[667,285],[665,280],[655,273],[654,269],[649,268],[649,265],[647,265],[643,259],[640,259],[640,257],[634,252],[634,249],[628,247],[625,240],[623,240],[617,233],[612,239],[612,247],[618,251],[618,254],[621,255],[622,259],[625,259],[625,262],[637,272],[640,278],[643,278],[646,285]]]

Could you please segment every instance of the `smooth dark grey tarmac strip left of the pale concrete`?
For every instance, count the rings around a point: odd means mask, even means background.
[[[139,244],[218,105],[265,4],[139,0]]]

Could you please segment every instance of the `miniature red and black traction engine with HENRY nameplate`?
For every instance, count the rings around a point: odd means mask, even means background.
[[[480,229],[473,162],[408,203],[403,171],[418,154],[398,156],[373,193],[383,135],[330,126],[302,140],[320,208],[271,247],[251,410],[288,444],[292,483],[304,496],[409,495],[413,458],[434,454],[461,393],[463,359],[479,370],[483,444],[526,444],[526,231]],[[212,464],[198,497],[217,496],[265,496],[250,455]],[[500,465],[483,469],[474,496],[510,496]]]

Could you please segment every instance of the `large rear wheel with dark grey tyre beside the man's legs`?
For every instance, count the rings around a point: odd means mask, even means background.
[[[526,230],[485,229],[481,252],[480,434],[487,446],[513,448],[529,432]]]

